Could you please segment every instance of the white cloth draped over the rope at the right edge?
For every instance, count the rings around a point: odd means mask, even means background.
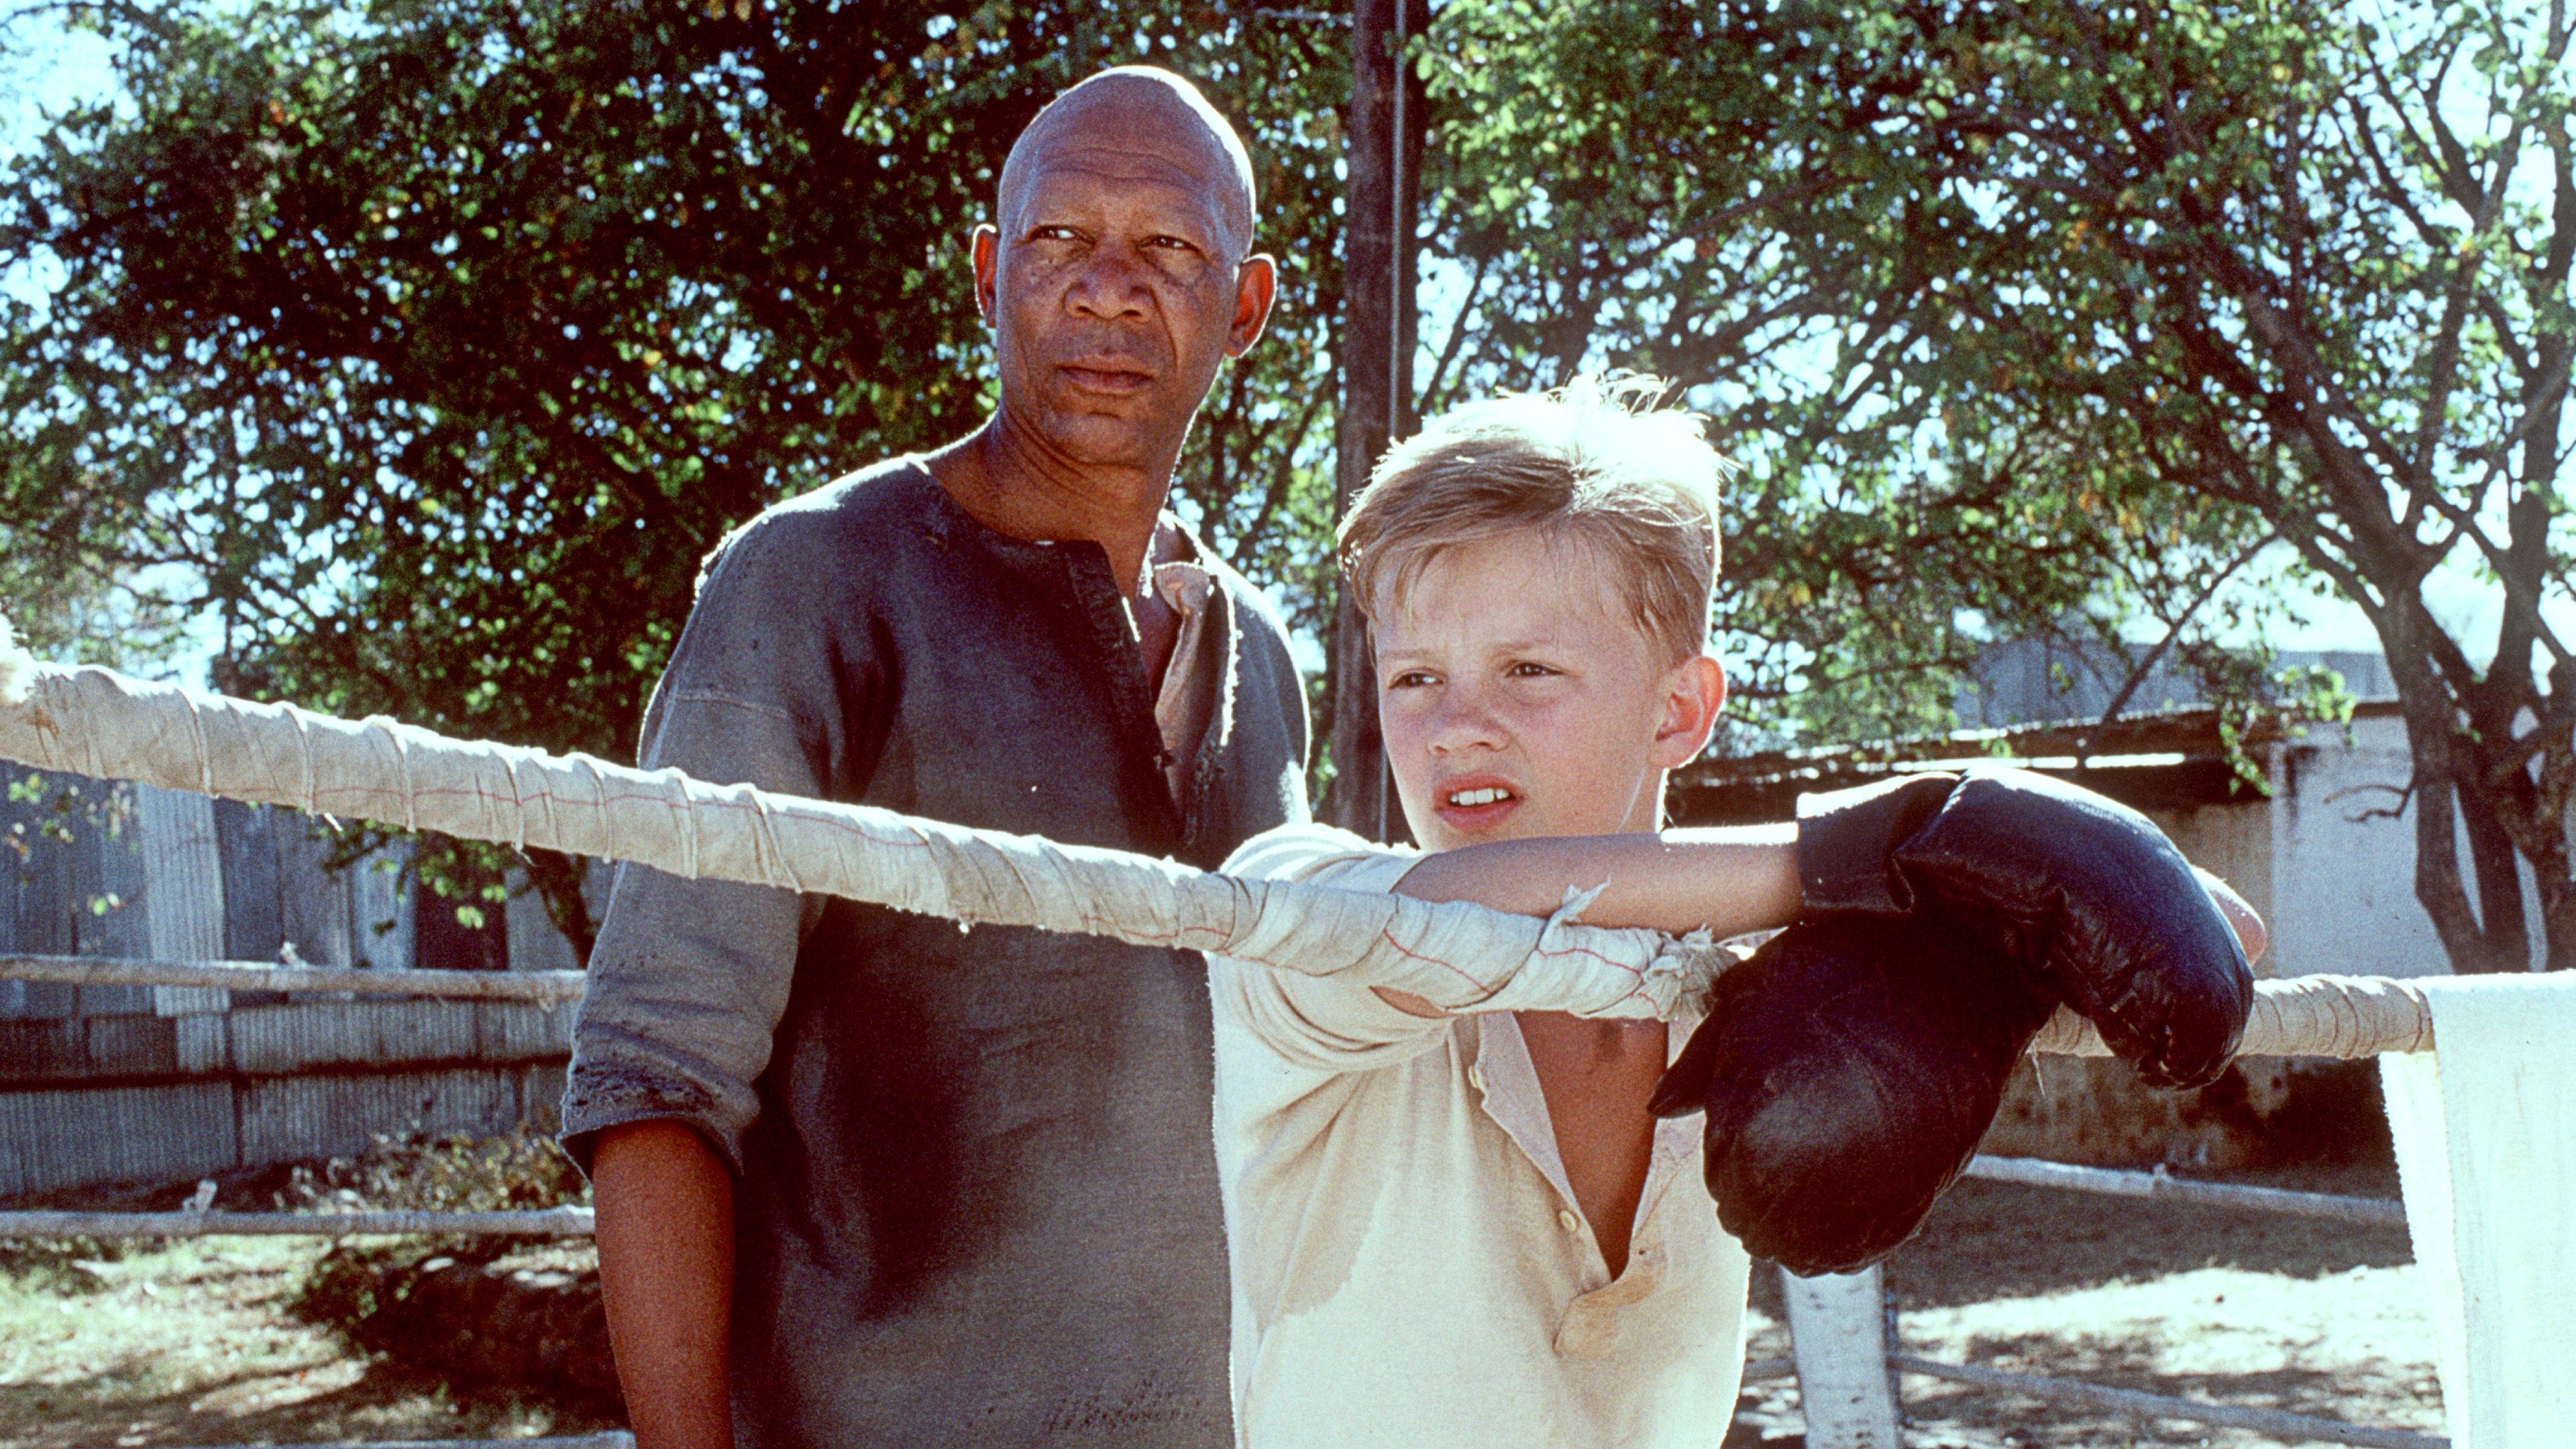
[[[2576,1444],[2576,972],[2429,977],[2380,1057],[2452,1449]]]

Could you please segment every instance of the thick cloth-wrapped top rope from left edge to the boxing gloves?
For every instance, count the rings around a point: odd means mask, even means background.
[[[1582,1016],[1669,1018],[1731,959],[1705,933],[1677,941],[1579,926],[1577,897],[1538,920],[1466,902],[1231,879],[1126,851],[446,740],[392,719],[332,719],[100,668],[33,665],[26,699],[0,701],[0,758],[837,895],[961,926],[1036,926],[1306,975],[1350,972],[1450,1011],[1517,985]]]

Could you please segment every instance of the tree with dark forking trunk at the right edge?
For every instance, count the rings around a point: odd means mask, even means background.
[[[2388,652],[2416,897],[2452,967],[2527,967],[2524,866],[2548,964],[2576,964],[2566,5],[1927,3],[1747,26],[1747,59],[1801,106],[1878,95],[1829,155],[1893,168],[1940,214],[1899,374],[1978,428],[2066,438],[2038,485],[2120,459],[2295,549]],[[2463,562],[2504,596],[2488,657],[2427,596]]]

